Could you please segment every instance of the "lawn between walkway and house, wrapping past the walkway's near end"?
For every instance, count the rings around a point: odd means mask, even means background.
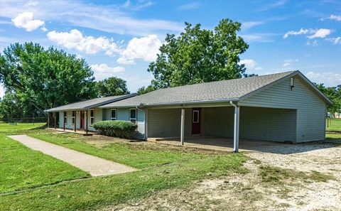
[[[96,136],[77,134],[31,136],[140,170],[3,195],[0,196],[3,210],[96,210],[139,200],[168,188],[185,188],[194,180],[246,172],[243,163],[247,157],[242,153],[214,154],[123,141],[99,146],[92,144]],[[94,142],[97,141],[100,142]]]

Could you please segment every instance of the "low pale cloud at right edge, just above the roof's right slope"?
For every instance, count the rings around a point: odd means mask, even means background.
[[[341,73],[337,72],[313,72],[305,74],[312,82],[323,83],[328,87],[340,85]]]

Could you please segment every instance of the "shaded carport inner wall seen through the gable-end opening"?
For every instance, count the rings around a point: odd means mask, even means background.
[[[231,129],[233,129],[233,115],[231,118]],[[241,107],[239,117],[239,138],[295,142],[296,110]]]

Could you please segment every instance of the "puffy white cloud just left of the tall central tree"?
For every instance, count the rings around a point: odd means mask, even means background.
[[[132,38],[126,49],[121,51],[121,57],[117,63],[131,65],[134,60],[142,59],[147,62],[156,60],[158,48],[161,46],[161,40],[156,35],[150,35],[142,38]]]

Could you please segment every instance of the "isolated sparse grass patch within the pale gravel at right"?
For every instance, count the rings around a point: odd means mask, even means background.
[[[276,166],[260,166],[259,175],[265,183],[283,183],[284,180],[303,180],[306,183],[327,182],[328,180],[335,180],[333,175],[320,173],[318,171],[310,171],[305,173],[303,171],[295,171],[293,169],[279,168]]]

